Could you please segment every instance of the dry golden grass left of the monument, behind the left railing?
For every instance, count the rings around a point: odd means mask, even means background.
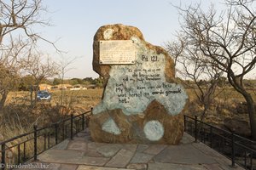
[[[7,103],[0,111],[0,141],[13,138],[21,133],[32,131],[34,124],[44,127],[60,121],[70,113],[80,114],[89,111],[102,98],[102,89],[79,91],[53,91],[52,100],[39,101],[31,107],[29,92],[9,93]]]

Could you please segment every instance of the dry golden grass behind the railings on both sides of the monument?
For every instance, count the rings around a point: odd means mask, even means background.
[[[233,88],[225,88],[219,91],[218,97],[214,100],[208,111],[206,121],[221,123],[226,117],[241,116],[248,120],[247,114],[237,114],[237,106],[245,101],[241,94]],[[187,89],[189,94],[189,110],[187,114],[195,115],[202,112],[203,108],[196,102],[196,96],[192,89]],[[50,102],[38,102],[34,108],[30,107],[29,92],[12,92],[8,96],[7,105],[0,111],[0,140],[9,139],[20,133],[32,130],[33,124],[44,126],[50,122],[56,122],[71,112],[82,113],[89,111],[102,99],[102,89],[88,89],[79,91],[53,91]],[[254,101],[256,95],[251,91]],[[62,103],[61,103],[62,96]],[[3,133],[8,132],[8,133]]]

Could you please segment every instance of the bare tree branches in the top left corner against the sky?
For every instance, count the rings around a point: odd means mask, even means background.
[[[41,16],[45,12],[47,8],[42,5],[42,0],[0,1],[0,44],[3,44],[3,37],[16,31],[30,38],[32,42],[41,39],[55,47],[53,42],[32,29],[34,26],[49,26],[49,20],[44,20]]]

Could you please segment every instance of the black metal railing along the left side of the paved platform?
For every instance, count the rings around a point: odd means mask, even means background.
[[[20,164],[25,161],[38,161],[38,155],[59,144],[65,139],[73,139],[76,133],[81,132],[89,125],[91,111],[70,117],[50,124],[47,127],[35,125],[33,131],[20,134],[15,138],[0,142],[1,169],[7,164]]]

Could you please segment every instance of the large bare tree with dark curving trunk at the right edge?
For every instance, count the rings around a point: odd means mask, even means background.
[[[256,110],[252,94],[244,88],[244,77],[256,63],[255,0],[226,0],[219,13],[207,12],[200,4],[178,8],[183,37],[189,48],[199,48],[205,62],[224,71],[228,81],[247,101],[253,139],[256,139]]]

